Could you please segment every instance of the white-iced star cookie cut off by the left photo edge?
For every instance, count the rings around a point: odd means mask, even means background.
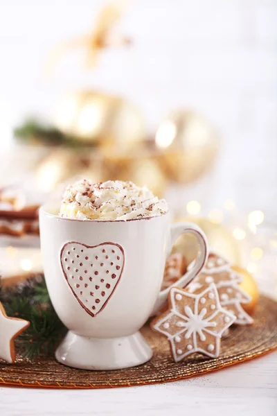
[[[30,322],[26,320],[9,318],[0,302],[0,358],[2,360],[10,364],[15,362],[15,338],[29,325]]]

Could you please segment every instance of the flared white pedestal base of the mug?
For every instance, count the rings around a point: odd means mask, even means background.
[[[119,370],[146,363],[150,345],[138,331],[120,338],[88,338],[69,331],[57,348],[59,363],[82,370]]]

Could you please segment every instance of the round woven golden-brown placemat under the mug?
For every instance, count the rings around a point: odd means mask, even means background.
[[[174,363],[168,341],[146,324],[142,333],[154,349],[149,363],[114,371],[76,370],[57,363],[53,356],[28,360],[19,355],[10,367],[0,362],[0,384],[53,388],[111,388],[177,381],[220,370],[267,354],[277,348],[277,303],[261,296],[253,315],[255,325],[235,327],[222,340],[219,358],[186,357]],[[19,345],[18,345],[19,347]]]

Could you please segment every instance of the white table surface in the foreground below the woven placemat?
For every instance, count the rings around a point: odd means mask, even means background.
[[[277,351],[204,376],[136,388],[0,388],[1,416],[276,416]]]

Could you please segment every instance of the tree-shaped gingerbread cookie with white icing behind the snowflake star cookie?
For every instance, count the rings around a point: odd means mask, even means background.
[[[188,266],[188,268],[190,267]],[[241,281],[242,276],[231,269],[228,261],[222,259],[215,252],[210,252],[201,273],[187,287],[187,290],[194,293],[207,284],[215,283],[220,296],[220,303],[226,311],[235,315],[235,324],[253,324],[251,316],[242,308],[242,304],[249,303],[251,297],[240,288]]]

